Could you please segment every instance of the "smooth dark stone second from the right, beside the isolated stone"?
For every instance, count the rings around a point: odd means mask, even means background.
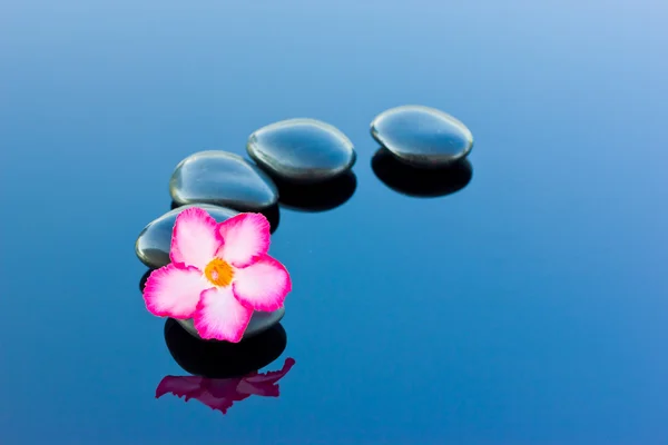
[[[351,169],[353,142],[337,128],[315,119],[288,119],[248,137],[246,150],[269,175],[294,182],[321,182]]]

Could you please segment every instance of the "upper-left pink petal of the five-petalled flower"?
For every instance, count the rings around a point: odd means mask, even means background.
[[[185,263],[204,270],[216,256],[222,239],[216,220],[199,207],[190,207],[178,214],[171,233],[171,263]]]

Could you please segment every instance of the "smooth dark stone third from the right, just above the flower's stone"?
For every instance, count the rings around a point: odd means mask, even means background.
[[[257,166],[226,151],[199,151],[171,174],[169,194],[177,205],[207,202],[258,211],[278,201],[278,189]]]

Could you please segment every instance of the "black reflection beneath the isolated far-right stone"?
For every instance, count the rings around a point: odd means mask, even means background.
[[[403,164],[386,148],[380,148],[371,159],[375,176],[391,189],[412,197],[433,198],[454,194],[466,187],[473,167],[461,159],[448,167],[421,169]]]

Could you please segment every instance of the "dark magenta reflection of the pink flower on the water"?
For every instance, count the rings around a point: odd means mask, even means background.
[[[167,393],[185,397],[186,402],[195,398],[212,409],[223,414],[235,403],[250,397],[278,397],[277,382],[287,374],[295,360],[286,358],[283,369],[265,374],[250,373],[238,378],[206,378],[198,376],[166,376],[156,389],[156,398]]]

